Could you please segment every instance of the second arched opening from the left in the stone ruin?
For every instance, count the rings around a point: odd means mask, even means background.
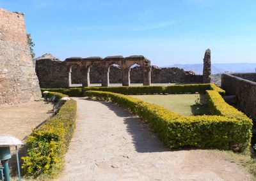
[[[100,66],[97,64],[92,64],[88,68],[88,86],[101,86],[101,72],[100,72]]]

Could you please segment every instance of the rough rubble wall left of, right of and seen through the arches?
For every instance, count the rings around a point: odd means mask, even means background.
[[[68,87],[68,68],[65,62],[54,59],[37,59],[36,73],[41,87]],[[184,71],[180,68],[158,68],[152,66],[151,83],[202,83],[203,75],[195,75],[193,71]],[[100,66],[90,67],[90,83],[101,83],[102,73]],[[82,83],[81,69],[72,66],[72,83]],[[135,66],[130,71],[131,83],[143,83],[143,70],[141,66]],[[109,83],[122,83],[122,69],[118,66],[109,67]]]

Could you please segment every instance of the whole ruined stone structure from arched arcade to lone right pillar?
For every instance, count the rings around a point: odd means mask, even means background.
[[[130,57],[70,57],[61,62],[52,55],[45,54],[36,59],[36,74],[40,87],[72,87],[73,84],[89,86],[90,83],[209,83],[211,81],[211,50],[204,56],[204,71],[196,75],[180,68],[158,68],[142,55]]]

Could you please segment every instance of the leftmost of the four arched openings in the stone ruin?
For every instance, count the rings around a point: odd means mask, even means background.
[[[73,65],[69,69],[68,84],[69,87],[81,87],[82,86],[82,74],[78,65]]]

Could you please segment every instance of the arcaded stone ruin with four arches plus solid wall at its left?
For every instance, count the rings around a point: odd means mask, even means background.
[[[81,83],[88,86],[90,83],[102,83],[108,86],[109,83],[118,82],[122,78],[122,85],[129,86],[130,69],[134,64],[140,65],[143,85],[150,85],[150,61],[142,55],[132,55],[130,57],[109,56],[101,57],[70,57],[61,62],[58,59],[36,59],[36,74],[38,75],[41,87],[70,87],[72,83]],[[113,66],[115,65],[115,66]],[[119,67],[119,68],[118,68]],[[109,73],[116,69],[115,75]],[[92,71],[92,72],[91,72]],[[109,80],[116,77],[115,80]],[[72,78],[72,76],[76,78]],[[97,82],[95,82],[97,79]],[[92,82],[91,82],[92,80]]]

